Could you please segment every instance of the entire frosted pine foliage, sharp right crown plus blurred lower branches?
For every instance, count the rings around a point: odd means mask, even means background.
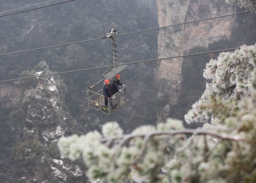
[[[102,134],[60,139],[61,155],[82,157],[88,177],[109,183],[256,182],[256,46],[221,53],[204,77],[212,82],[186,115],[187,122],[207,122],[203,128],[184,129],[168,119],[124,135],[109,122]]]

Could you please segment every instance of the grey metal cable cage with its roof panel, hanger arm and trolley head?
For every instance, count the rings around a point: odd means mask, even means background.
[[[112,63],[113,67],[111,67],[108,71],[103,73],[103,79],[97,82],[96,84],[91,84],[86,88],[86,93],[88,97],[88,106],[98,110],[99,112],[106,113],[108,115],[113,114],[120,107],[125,105],[129,100],[126,99],[126,86],[120,87],[121,92],[117,92],[111,98],[106,97],[108,100],[108,106],[105,105],[105,97],[103,96],[103,87],[105,86],[105,80],[108,79],[110,84],[112,85],[115,77],[125,70],[128,65],[119,65],[120,62],[117,61],[117,53],[116,53],[116,31],[115,27],[109,30],[105,37],[107,39],[112,39]],[[103,83],[103,87],[102,87]]]

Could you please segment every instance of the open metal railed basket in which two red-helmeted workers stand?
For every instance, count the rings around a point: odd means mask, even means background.
[[[89,87],[86,88],[86,93],[88,96],[88,106],[98,110],[99,112],[110,115],[129,101],[128,99],[126,99],[125,96],[126,87],[123,87],[121,89],[121,93],[116,93],[115,95],[113,95],[112,99],[108,100],[108,106],[105,106],[105,98],[102,95],[103,88],[102,85],[99,86],[102,83],[104,83],[104,79],[102,79],[96,84],[91,84]],[[101,89],[97,90],[97,87],[100,87]]]

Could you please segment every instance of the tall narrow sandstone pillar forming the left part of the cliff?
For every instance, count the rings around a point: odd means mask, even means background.
[[[179,0],[170,2],[169,0],[157,0],[159,26],[173,25],[185,22],[189,1]],[[159,58],[166,58],[183,53],[184,25],[160,29],[158,36]],[[172,98],[172,102],[177,102],[178,90],[180,90],[182,58],[163,60],[157,71],[158,81],[162,84],[158,97],[163,97],[166,93]]]

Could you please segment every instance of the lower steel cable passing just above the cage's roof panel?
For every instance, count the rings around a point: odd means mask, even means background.
[[[215,52],[224,52],[224,51],[230,51],[230,50],[234,50],[234,49],[239,49],[239,47],[238,48],[229,48],[229,49],[220,49],[220,50],[209,51],[209,52],[192,53],[192,54],[188,54],[188,55],[180,55],[180,56],[173,56],[173,57],[166,57],[166,58],[156,58],[156,59],[151,59],[151,60],[146,60],[146,61],[135,61],[135,62],[125,63],[125,64],[117,64],[116,66],[140,64],[140,63],[144,63],[144,62],[159,61],[159,60],[166,60],[166,59],[180,58],[180,57],[188,57],[188,56],[194,56],[194,55],[203,55],[203,54],[215,53]],[[8,81],[23,80],[23,79],[39,78],[39,77],[45,77],[45,76],[67,74],[67,73],[76,73],[76,72],[81,72],[81,71],[96,70],[96,69],[102,69],[102,68],[107,68],[107,67],[113,67],[113,65],[92,67],[92,68],[80,69],[80,70],[71,70],[71,71],[66,71],[66,72],[61,72],[61,73],[52,73],[52,74],[46,74],[46,75],[41,75],[41,76],[30,76],[30,77],[25,77],[25,78],[9,79],[9,80],[0,81],[0,83],[8,82]]]

